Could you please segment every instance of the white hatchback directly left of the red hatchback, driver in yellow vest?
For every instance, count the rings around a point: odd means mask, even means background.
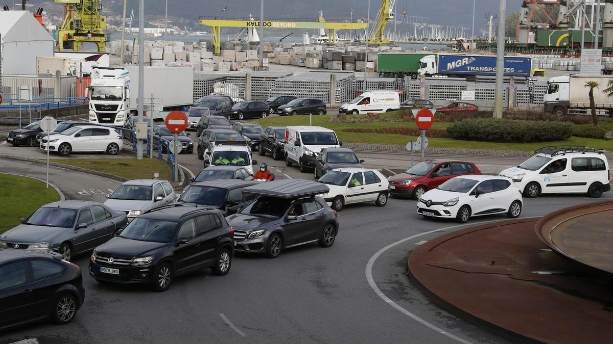
[[[335,168],[328,171],[318,182],[326,184],[330,191],[321,196],[335,211],[345,204],[371,202],[379,207],[387,204],[389,196],[387,178],[377,170],[366,168]]]

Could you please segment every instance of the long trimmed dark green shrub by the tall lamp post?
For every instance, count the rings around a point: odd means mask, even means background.
[[[573,124],[557,121],[515,121],[511,119],[465,119],[447,127],[447,136],[456,140],[531,143],[565,140],[573,135]]]

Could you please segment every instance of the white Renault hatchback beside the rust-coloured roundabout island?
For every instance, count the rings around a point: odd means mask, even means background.
[[[509,178],[465,175],[451,178],[417,201],[417,214],[455,218],[465,223],[471,216],[504,214],[511,219],[522,213],[522,192]]]

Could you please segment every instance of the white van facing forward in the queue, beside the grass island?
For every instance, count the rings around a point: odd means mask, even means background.
[[[324,127],[295,126],[285,129],[285,164],[292,163],[305,173],[315,167],[315,159],[324,148],[338,148],[343,143],[338,141],[334,130]]]

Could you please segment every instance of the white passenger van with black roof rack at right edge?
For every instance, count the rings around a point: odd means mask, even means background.
[[[600,197],[611,190],[609,162],[602,149],[585,146],[550,146],[500,176],[511,178],[528,198],[541,193],[587,193]]]

